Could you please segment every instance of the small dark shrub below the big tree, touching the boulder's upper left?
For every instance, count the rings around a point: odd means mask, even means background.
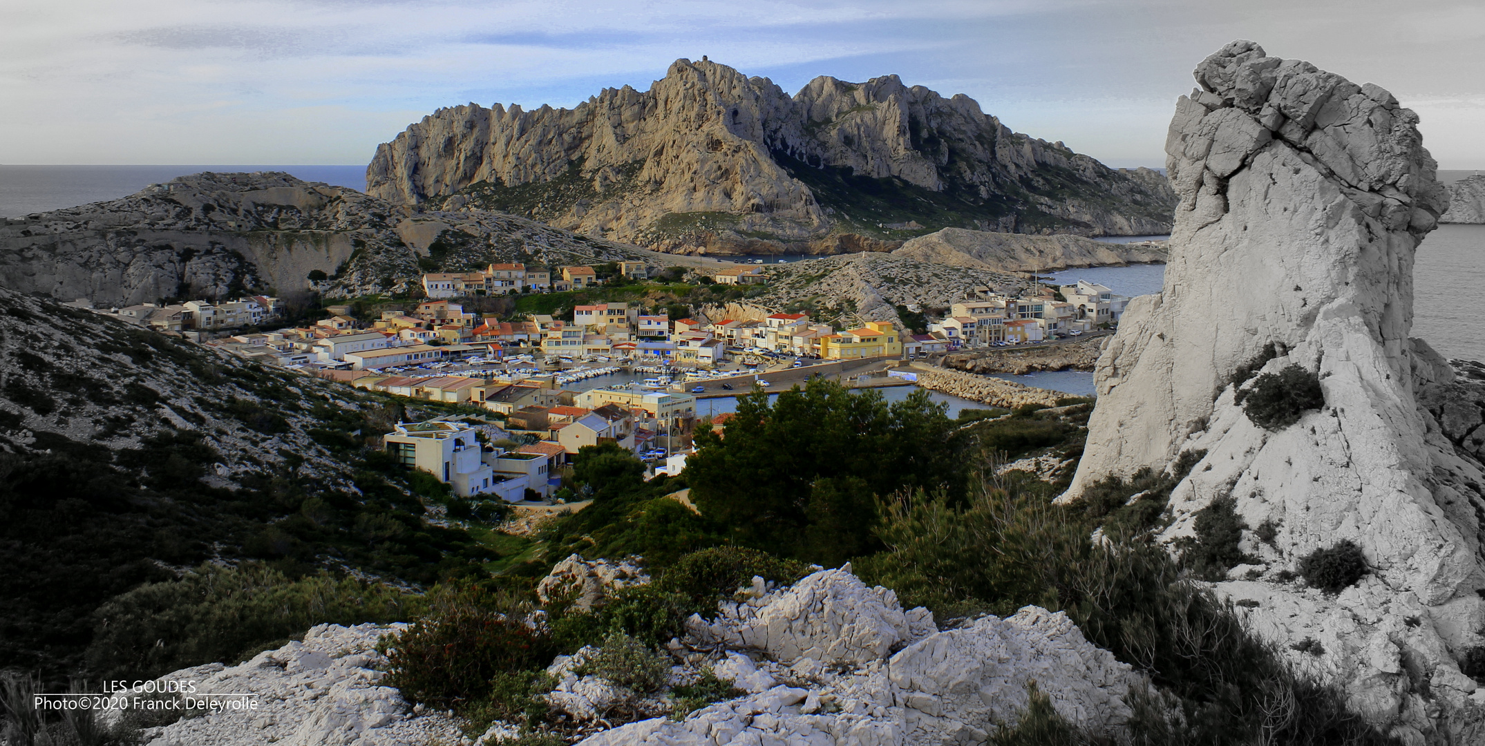
[[[680,593],[692,611],[711,618],[717,601],[731,598],[754,575],[780,584],[793,583],[809,571],[803,562],[780,559],[747,547],[713,547],[692,552],[665,570],[656,581],[662,590]]]

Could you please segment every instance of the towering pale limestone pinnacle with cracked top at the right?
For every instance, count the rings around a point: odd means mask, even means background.
[[[1250,564],[1218,589],[1253,629],[1405,742],[1479,743],[1485,691],[1460,661],[1485,644],[1485,475],[1420,406],[1458,381],[1408,337],[1414,249],[1448,205],[1418,117],[1252,42],[1195,79],[1166,141],[1181,203],[1164,288],[1099,359],[1068,497],[1185,457],[1163,541],[1234,500]],[[1293,581],[1342,541],[1365,556],[1359,583]]]

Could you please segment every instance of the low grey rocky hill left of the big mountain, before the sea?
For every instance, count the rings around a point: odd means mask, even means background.
[[[405,289],[423,271],[492,261],[653,260],[512,215],[425,212],[288,174],[195,174],[111,202],[0,222],[0,286],[97,306]]]

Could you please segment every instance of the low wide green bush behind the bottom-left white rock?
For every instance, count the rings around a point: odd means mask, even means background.
[[[315,624],[405,621],[419,610],[420,598],[383,584],[330,575],[290,580],[258,564],[202,565],[101,605],[88,661],[105,679],[233,664]]]

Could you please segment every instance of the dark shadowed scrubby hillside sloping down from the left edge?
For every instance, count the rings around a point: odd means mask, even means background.
[[[0,319],[0,669],[76,673],[99,604],[203,561],[432,583],[495,556],[361,452],[386,397],[9,289]]]

